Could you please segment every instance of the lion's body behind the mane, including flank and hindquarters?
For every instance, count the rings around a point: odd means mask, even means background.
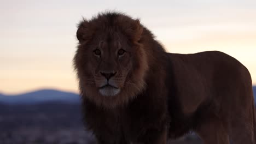
[[[218,143],[213,141],[218,140],[217,134],[225,140],[229,135],[234,143],[240,143],[237,139],[254,143],[254,100],[248,70],[235,58],[218,51],[191,55],[170,53],[169,57],[173,88],[168,88],[171,89],[168,97],[175,99],[169,103],[170,113],[176,113],[172,105],[179,104],[170,134],[177,135],[177,131],[182,134],[192,128],[202,139],[203,135],[213,136],[212,143]],[[186,124],[189,127],[184,127]]]

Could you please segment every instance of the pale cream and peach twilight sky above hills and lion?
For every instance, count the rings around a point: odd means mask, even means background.
[[[141,19],[168,52],[223,51],[248,68],[256,85],[255,0],[0,0],[0,93],[78,92],[77,24],[105,10]]]

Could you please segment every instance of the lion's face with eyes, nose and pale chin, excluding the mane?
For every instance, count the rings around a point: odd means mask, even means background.
[[[127,75],[133,66],[132,53],[135,49],[125,39],[119,40],[117,35],[109,37],[102,34],[101,38],[92,40],[82,48],[86,49],[82,53],[83,61],[86,61],[84,74],[88,73],[84,75],[84,82],[97,89],[103,97],[117,95],[129,84]]]

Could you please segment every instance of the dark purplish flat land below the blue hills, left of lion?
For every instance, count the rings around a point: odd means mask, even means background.
[[[79,104],[0,105],[0,143],[94,143]]]

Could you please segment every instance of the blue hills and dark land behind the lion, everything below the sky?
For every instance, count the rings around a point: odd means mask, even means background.
[[[256,87],[253,89],[255,93]],[[0,130],[1,144],[96,143],[83,127],[79,95],[54,89],[0,94]],[[188,135],[170,143],[192,144],[201,140]]]

